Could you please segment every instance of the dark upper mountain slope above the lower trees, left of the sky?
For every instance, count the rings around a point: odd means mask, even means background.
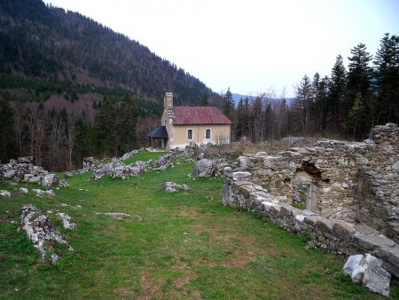
[[[159,103],[165,91],[184,105],[218,97],[137,41],[41,0],[0,2],[0,73],[69,86],[118,87]]]

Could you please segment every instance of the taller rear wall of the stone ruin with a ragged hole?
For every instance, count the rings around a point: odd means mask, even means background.
[[[377,126],[363,143],[323,139],[277,156],[240,156],[232,167],[249,172],[251,182],[280,201],[292,203],[293,192],[307,188],[307,209],[399,241],[398,132],[395,124]]]

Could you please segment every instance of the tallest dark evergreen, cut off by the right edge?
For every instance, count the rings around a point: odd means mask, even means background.
[[[374,59],[377,122],[399,122],[399,36],[385,36]]]

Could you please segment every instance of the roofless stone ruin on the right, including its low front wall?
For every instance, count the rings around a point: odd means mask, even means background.
[[[276,156],[240,156],[224,170],[223,203],[308,234],[325,249],[372,252],[398,276],[398,150],[399,129],[387,123],[362,143],[322,139]],[[292,206],[301,202],[306,209]]]

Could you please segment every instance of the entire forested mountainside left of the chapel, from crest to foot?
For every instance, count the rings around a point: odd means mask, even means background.
[[[184,69],[79,13],[0,1],[2,162],[28,154],[65,170],[87,155],[145,146],[165,91],[176,105],[220,101]]]

